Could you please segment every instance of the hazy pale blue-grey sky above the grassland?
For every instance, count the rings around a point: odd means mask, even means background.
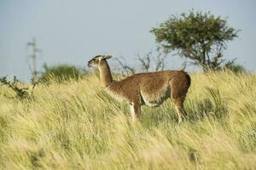
[[[70,64],[86,68],[97,54],[125,57],[136,65],[136,55],[154,50],[149,31],[172,14],[210,11],[241,30],[228,42],[225,59],[236,59],[247,71],[256,71],[256,1],[254,0],[0,0],[0,77],[31,78],[32,49],[36,38],[37,67]],[[168,69],[180,68],[183,59],[168,55]],[[113,59],[110,61],[113,65]],[[189,68],[196,70],[195,66]]]

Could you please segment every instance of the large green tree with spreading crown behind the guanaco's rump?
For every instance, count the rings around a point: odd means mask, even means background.
[[[207,71],[225,63],[226,42],[237,37],[238,30],[209,12],[190,11],[189,14],[172,15],[151,32],[166,54],[177,50],[181,57],[191,59],[193,64]]]

